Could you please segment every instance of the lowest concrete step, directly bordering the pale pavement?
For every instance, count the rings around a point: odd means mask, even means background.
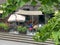
[[[19,40],[19,39],[12,39],[12,38],[5,38],[5,37],[0,37],[2,40],[8,40],[8,41],[16,41],[16,42],[23,42],[23,43],[30,43],[30,44],[40,44],[40,45],[46,45],[46,44],[53,44],[53,43],[48,43],[48,42],[35,42],[35,41],[26,41],[26,40]]]

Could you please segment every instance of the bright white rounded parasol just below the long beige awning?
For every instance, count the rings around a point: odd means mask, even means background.
[[[18,14],[12,14],[9,17],[8,22],[13,22],[13,21],[16,21],[16,22],[24,22],[25,21],[25,16],[18,15]]]

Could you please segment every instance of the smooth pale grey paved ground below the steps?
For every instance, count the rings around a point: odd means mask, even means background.
[[[35,44],[0,40],[0,45],[35,45]]]

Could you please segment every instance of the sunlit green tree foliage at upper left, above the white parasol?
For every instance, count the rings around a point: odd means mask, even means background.
[[[18,8],[25,5],[29,0],[7,0],[6,3],[2,4],[3,16],[2,18],[7,17],[11,13],[14,13]]]

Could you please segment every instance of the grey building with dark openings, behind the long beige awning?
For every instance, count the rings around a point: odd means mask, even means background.
[[[0,4],[6,2],[6,0],[0,0]],[[32,6],[31,2],[26,3],[23,7],[19,8],[18,10],[24,10],[24,11],[38,11],[39,7],[40,7],[40,2],[37,1],[38,3],[36,4],[36,6]],[[34,13],[34,12],[33,12]],[[30,13],[29,13],[30,14]],[[37,22],[37,24],[45,24],[47,22],[46,18],[49,18],[49,16],[45,16],[43,13],[40,15],[29,15],[29,14],[23,14],[26,17],[26,21],[32,20],[32,23],[34,21]],[[2,16],[2,14],[0,14],[0,17]]]

